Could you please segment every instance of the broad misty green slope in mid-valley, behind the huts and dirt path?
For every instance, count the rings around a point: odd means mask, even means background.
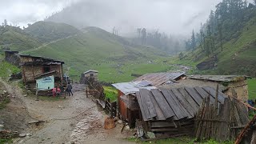
[[[105,82],[130,81],[132,73],[171,70],[171,66],[162,64],[166,56],[160,50],[131,46],[123,38],[95,27],[84,31],[28,54],[64,60],[67,73],[75,79],[89,69],[99,70],[99,79]]]

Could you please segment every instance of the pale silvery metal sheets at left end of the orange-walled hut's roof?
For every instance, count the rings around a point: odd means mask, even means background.
[[[134,94],[137,91],[139,91],[139,89],[147,89],[147,90],[151,90],[151,89],[157,89],[154,86],[139,86],[140,82],[122,82],[122,83],[114,83],[112,84],[112,86],[114,86],[115,88],[117,88],[118,90],[122,91],[123,94]]]

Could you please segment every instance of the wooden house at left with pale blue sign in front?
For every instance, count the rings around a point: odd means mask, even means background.
[[[20,66],[22,81],[31,90],[50,90],[63,83],[62,61],[12,51],[6,51],[6,61]]]

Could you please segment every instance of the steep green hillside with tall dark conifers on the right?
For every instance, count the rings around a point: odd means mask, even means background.
[[[229,6],[224,2],[221,4]],[[200,30],[202,38],[199,36],[197,39],[197,49],[184,53],[181,62],[192,60],[193,66],[202,69],[196,71],[200,74],[246,74],[256,77],[256,6],[250,4],[237,9],[241,14],[234,16],[227,10],[222,14],[222,18],[226,16],[222,20],[218,19],[218,10],[211,13],[212,22],[209,20]]]

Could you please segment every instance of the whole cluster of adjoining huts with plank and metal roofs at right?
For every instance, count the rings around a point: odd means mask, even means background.
[[[218,106],[224,105],[229,93],[233,93],[231,88],[238,98],[246,100],[245,80],[243,76],[187,77],[183,72],[154,73],[113,86],[118,89],[118,112],[123,120],[132,127],[137,120],[144,131],[168,137],[192,134],[195,114],[206,97],[210,96],[210,104],[214,104],[217,85]]]

